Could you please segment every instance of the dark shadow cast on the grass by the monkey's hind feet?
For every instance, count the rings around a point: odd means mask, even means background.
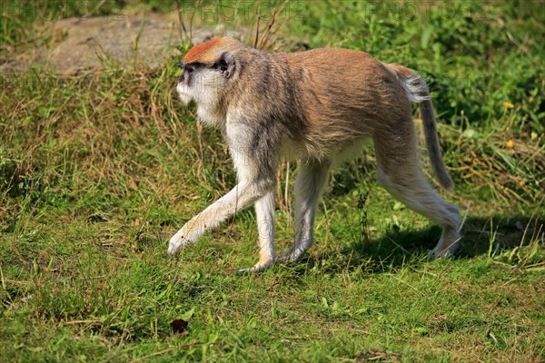
[[[530,243],[540,225],[545,224],[541,217],[494,215],[490,218],[468,218],[462,229],[461,245],[454,259],[471,259],[487,255],[490,250],[498,254]],[[526,231],[527,230],[527,231]],[[525,234],[526,231],[526,234]],[[381,238],[362,240],[339,250],[338,253],[322,255],[318,259],[301,259],[299,268],[312,270],[317,267],[331,272],[341,272],[346,268],[364,267],[370,272],[389,272],[407,263],[418,266],[427,263],[427,252],[432,250],[441,236],[439,226],[427,229],[398,230],[397,226],[386,231]],[[296,270],[299,270],[296,268]],[[302,271],[301,271],[302,272]]]

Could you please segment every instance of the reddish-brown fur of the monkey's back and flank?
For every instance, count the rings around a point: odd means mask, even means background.
[[[400,80],[371,55],[322,48],[278,56],[290,65],[302,95],[307,142],[317,152],[339,152],[384,128],[412,127]]]

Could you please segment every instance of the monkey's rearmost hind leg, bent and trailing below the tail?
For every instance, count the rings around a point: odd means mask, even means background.
[[[441,225],[441,239],[430,251],[431,257],[446,257],[456,252],[460,234],[458,208],[441,199],[421,171],[414,129],[406,129],[404,137],[375,137],[378,161],[378,180],[381,186],[412,211]],[[409,139],[408,139],[409,136]],[[399,142],[404,140],[404,142]],[[407,142],[408,141],[408,142]]]

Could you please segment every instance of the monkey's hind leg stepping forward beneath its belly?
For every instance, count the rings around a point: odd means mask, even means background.
[[[295,181],[295,241],[276,260],[295,261],[314,241],[314,215],[320,193],[327,181],[330,161],[302,161]]]

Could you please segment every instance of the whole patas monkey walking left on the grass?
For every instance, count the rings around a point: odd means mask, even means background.
[[[316,204],[332,163],[372,138],[378,182],[413,211],[439,223],[435,257],[452,253],[459,240],[458,208],[443,201],[421,172],[411,101],[420,104],[431,165],[439,182],[452,182],[441,159],[435,116],[421,76],[397,64],[347,49],[270,54],[231,38],[194,46],[176,87],[184,103],[223,132],[238,183],[185,223],[169,242],[170,254],[196,242],[236,211],[255,205],[259,261],[297,260],[312,245]],[[295,182],[295,238],[274,251],[274,190],[281,156],[300,160]]]

